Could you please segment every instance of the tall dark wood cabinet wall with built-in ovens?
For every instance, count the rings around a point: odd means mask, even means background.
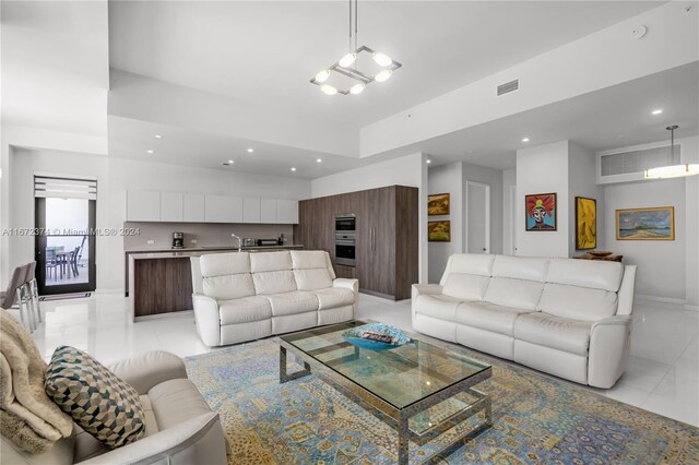
[[[359,289],[407,299],[418,278],[417,188],[390,186],[299,202],[294,237],[306,249],[330,253],[339,277],[356,277]],[[335,265],[335,215],[356,216],[356,266]],[[350,269],[350,270],[348,270]]]

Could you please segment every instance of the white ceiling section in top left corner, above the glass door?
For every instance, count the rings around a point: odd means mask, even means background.
[[[2,1],[2,122],[106,135],[106,2]]]

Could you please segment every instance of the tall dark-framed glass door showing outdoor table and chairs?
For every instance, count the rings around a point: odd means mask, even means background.
[[[40,180],[39,180],[40,179]],[[59,186],[60,191],[51,190]],[[94,194],[83,189],[85,182]],[[92,190],[92,189],[88,189]],[[63,196],[59,196],[63,195]],[[36,279],[42,295],[95,290],[96,181],[35,178]]]

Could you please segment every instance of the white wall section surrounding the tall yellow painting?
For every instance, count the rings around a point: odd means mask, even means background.
[[[578,255],[576,250],[576,196],[587,196],[597,201],[597,249],[604,250],[604,189],[596,184],[595,154],[573,142],[568,145],[568,254]],[[559,200],[562,202],[562,200]],[[559,218],[559,219],[562,219]]]

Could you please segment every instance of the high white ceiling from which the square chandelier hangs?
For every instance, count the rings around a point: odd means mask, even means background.
[[[358,96],[309,79],[347,51],[345,1],[110,1],[112,68],[359,128],[639,14],[651,1],[360,1],[359,45],[403,63]]]

